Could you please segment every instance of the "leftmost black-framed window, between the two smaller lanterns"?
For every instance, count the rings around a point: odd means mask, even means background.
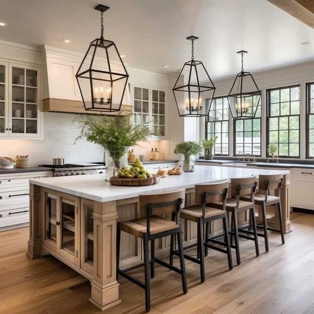
[[[229,105],[226,97],[214,98],[210,105],[206,138],[218,136],[215,155],[229,155]]]

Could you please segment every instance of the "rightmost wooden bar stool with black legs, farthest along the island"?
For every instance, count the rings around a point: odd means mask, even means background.
[[[257,226],[263,228],[263,234],[258,233],[259,236],[262,236],[265,241],[265,251],[269,251],[268,244],[268,233],[267,230],[279,232],[281,234],[282,244],[285,244],[285,235],[283,228],[283,218],[282,218],[282,209],[281,209],[281,200],[280,192],[283,185],[283,175],[260,175],[259,176],[259,191],[258,194],[254,196],[255,204],[260,206],[262,213],[262,225],[258,224]],[[276,196],[269,195],[271,191],[275,191]],[[242,199],[247,199],[247,197],[242,197]],[[271,228],[267,226],[267,206],[275,205],[277,208],[279,228]],[[256,214],[258,216],[258,213]],[[269,217],[270,218],[270,217]]]

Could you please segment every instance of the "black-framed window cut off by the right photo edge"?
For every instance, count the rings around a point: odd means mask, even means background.
[[[306,157],[314,158],[314,82],[306,84],[307,128]]]

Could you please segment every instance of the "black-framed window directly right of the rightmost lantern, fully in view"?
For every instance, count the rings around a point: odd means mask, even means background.
[[[277,146],[279,157],[300,157],[300,85],[267,90],[269,143]]]

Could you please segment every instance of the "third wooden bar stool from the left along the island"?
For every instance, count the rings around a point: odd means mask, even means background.
[[[246,178],[232,178],[231,179],[231,198],[226,200],[226,210],[231,212],[231,244],[230,246],[235,249],[236,253],[236,262],[239,265],[241,263],[240,257],[240,247],[239,247],[239,237],[253,240],[255,242],[255,251],[256,256],[260,255],[259,249],[259,240],[257,235],[257,226],[255,221],[255,203],[254,195],[257,189],[257,179],[255,176],[246,177]],[[241,196],[248,196],[246,200],[241,200]],[[216,202],[211,204],[214,208],[223,208],[222,202]],[[251,226],[253,231],[244,231],[242,228],[239,228],[237,225],[237,216],[239,212],[249,210],[251,218]],[[244,235],[242,233],[247,233],[253,235]],[[235,236],[235,245],[233,245],[233,236]]]

